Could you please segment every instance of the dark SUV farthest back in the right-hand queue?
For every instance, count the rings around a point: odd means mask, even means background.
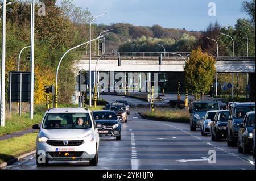
[[[210,110],[220,110],[220,105],[215,101],[194,101],[190,104],[190,130],[201,128],[201,119]]]

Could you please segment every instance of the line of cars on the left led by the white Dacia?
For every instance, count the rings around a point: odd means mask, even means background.
[[[36,138],[36,165],[49,161],[83,161],[98,163],[101,136],[114,136],[121,140],[121,121],[127,122],[126,100],[107,104],[103,111],[84,108],[53,108],[47,110]]]

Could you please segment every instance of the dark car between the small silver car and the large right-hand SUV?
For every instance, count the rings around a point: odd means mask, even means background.
[[[212,141],[226,139],[226,125],[228,124],[229,110],[218,111],[210,124]]]

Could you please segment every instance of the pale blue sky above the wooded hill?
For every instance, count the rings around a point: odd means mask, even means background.
[[[61,0],[57,0],[60,3]],[[236,19],[247,18],[242,12],[244,0],[73,0],[76,6],[88,8],[93,16],[108,13],[97,24],[130,23],[137,26],[159,24],[164,28],[205,30],[210,22],[234,26]],[[216,5],[216,16],[209,16],[209,3]]]

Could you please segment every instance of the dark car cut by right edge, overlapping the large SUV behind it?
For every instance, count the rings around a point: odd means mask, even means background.
[[[238,151],[243,154],[251,152],[253,146],[253,127],[255,126],[255,111],[248,112],[239,125]]]

